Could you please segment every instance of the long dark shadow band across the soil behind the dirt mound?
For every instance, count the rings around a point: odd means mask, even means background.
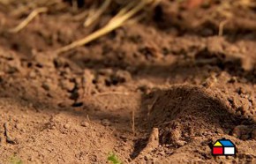
[[[101,70],[111,68],[113,70],[130,71],[132,76],[153,77],[153,78],[169,78],[169,77],[199,77],[206,78],[204,75],[210,75],[208,67],[216,68],[216,73],[221,71],[228,72],[231,76],[237,78],[246,78],[249,83],[256,83],[255,64],[251,65],[249,70],[244,69],[243,59],[238,57],[230,57],[221,53],[213,53],[208,49],[202,49],[189,60],[183,63],[176,62],[171,64],[144,64],[144,63],[127,63],[125,60],[118,60],[117,57],[106,57],[104,60],[88,59],[83,56],[70,58],[72,63],[79,63],[81,68],[92,68]],[[127,69],[132,68],[132,69]],[[205,74],[203,73],[204,71]],[[232,82],[232,81],[230,81]]]

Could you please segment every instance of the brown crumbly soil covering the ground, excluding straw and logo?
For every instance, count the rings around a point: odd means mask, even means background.
[[[57,56],[113,14],[85,28],[61,4],[15,34],[29,11],[1,4],[0,163],[256,162],[255,6],[164,0]],[[211,154],[220,138],[235,156]]]

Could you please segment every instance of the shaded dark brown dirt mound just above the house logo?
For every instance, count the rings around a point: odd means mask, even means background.
[[[184,145],[207,132],[231,134],[230,130],[241,123],[250,124],[251,128],[255,125],[236,116],[221,97],[203,86],[171,86],[154,93],[148,123],[160,128],[162,144],[172,145]]]

